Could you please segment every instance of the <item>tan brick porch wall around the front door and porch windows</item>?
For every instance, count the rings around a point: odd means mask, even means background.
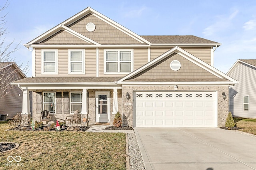
[[[47,92],[53,91],[55,92],[56,90],[47,90]],[[70,90],[58,90],[58,91],[70,91]],[[81,91],[81,90],[72,90],[72,91]],[[104,89],[104,90],[97,90],[93,89],[90,90],[88,89],[89,93],[89,111],[88,111],[88,116],[89,116],[89,125],[93,125],[96,123],[96,110],[95,110],[95,93],[96,91],[110,91],[110,121],[109,123],[112,124],[115,114],[112,114],[113,111],[113,89]],[[33,93],[33,121],[40,121],[41,114],[36,114],[36,93]],[[63,107],[62,107],[63,110]],[[118,89],[118,111],[122,113],[122,90]],[[64,121],[67,116],[72,116],[70,114],[56,114],[52,115],[51,119],[53,119],[54,122],[56,120],[58,121]],[[81,124],[86,126],[86,122],[83,122],[83,118],[87,118],[86,114],[81,115]]]

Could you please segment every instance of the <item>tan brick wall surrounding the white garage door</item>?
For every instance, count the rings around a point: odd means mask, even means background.
[[[133,91],[174,91],[174,86],[123,86],[122,95],[128,92],[130,99],[123,98],[123,103],[133,103]],[[178,91],[218,91],[218,127],[225,126],[229,111],[229,87],[228,86],[178,86]],[[226,93],[226,99],[222,98],[222,92]],[[123,124],[133,127],[133,105],[123,105]]]

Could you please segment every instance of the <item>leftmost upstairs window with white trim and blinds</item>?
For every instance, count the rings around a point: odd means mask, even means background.
[[[58,74],[57,49],[42,49],[42,74]]]

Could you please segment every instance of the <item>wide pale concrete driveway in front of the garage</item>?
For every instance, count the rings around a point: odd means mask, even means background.
[[[220,128],[134,128],[146,170],[256,170],[256,138]]]

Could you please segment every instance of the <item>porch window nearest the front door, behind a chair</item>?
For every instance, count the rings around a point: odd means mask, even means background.
[[[82,110],[82,92],[70,92],[70,113]]]

